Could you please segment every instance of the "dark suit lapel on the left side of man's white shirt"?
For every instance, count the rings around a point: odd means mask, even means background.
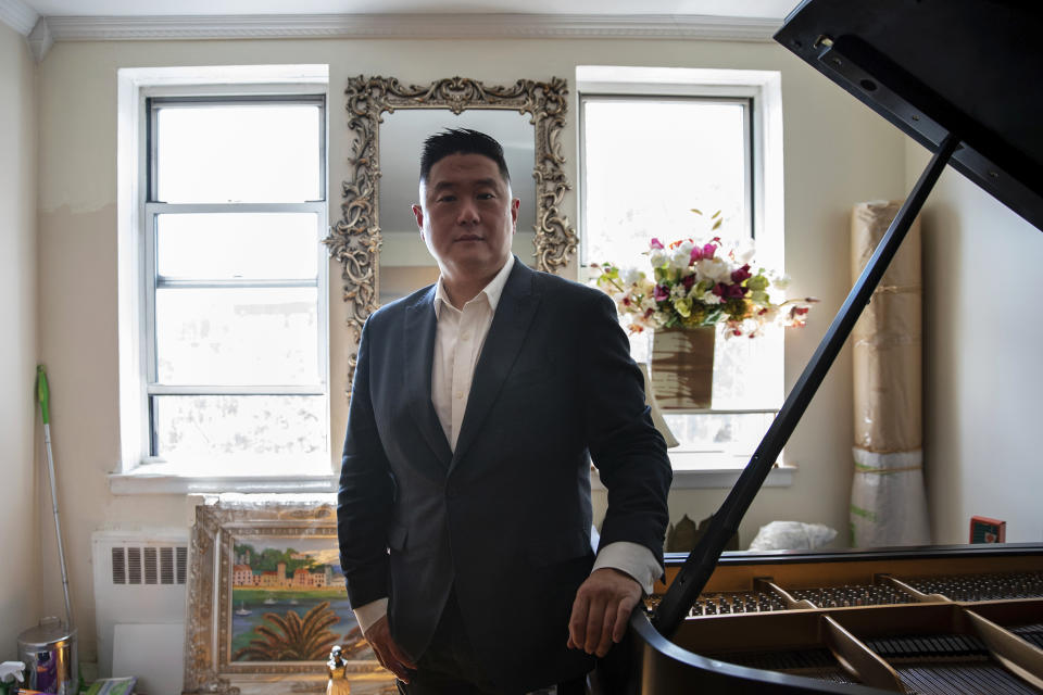
[[[452,451],[435,405],[431,403],[431,363],[435,358],[435,288],[405,312],[402,365],[410,410],[416,426],[442,466],[449,467]]]

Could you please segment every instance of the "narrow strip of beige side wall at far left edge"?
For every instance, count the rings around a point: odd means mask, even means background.
[[[34,467],[37,355],[36,66],[22,35],[0,24],[0,660],[39,620],[40,539]],[[50,521],[48,523],[51,523]],[[53,529],[53,526],[47,528]],[[61,587],[61,580],[56,585]]]

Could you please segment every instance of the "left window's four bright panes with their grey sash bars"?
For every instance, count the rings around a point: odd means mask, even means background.
[[[326,97],[178,91],[140,101],[140,458],[328,471]]]

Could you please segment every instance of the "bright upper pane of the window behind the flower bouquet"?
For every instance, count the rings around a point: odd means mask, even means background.
[[[746,108],[745,101],[585,100],[585,262],[636,265],[653,237],[747,239]],[[711,233],[707,223],[718,210],[725,223]]]

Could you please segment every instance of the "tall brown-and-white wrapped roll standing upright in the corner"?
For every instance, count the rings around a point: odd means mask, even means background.
[[[855,205],[852,277],[897,214],[899,202]],[[852,331],[856,547],[930,542],[922,471],[920,226],[913,224]]]

